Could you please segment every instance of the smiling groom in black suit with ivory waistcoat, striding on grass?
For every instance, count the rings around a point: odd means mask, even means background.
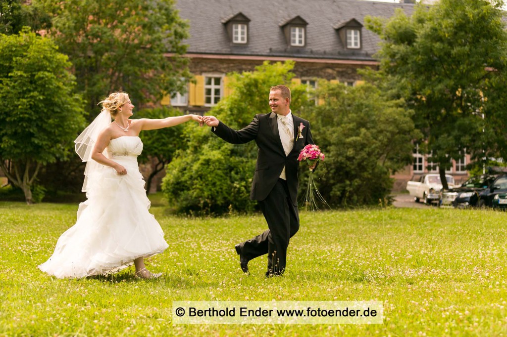
[[[292,114],[291,90],[271,87],[271,112],[257,114],[243,129],[236,131],[216,119],[204,116],[212,132],[232,144],[255,140],[259,147],[250,192],[258,200],[268,230],[235,246],[241,270],[248,272],[248,261],[268,254],[266,276],[279,276],[285,270],[289,239],[299,229],[298,155],[308,144],[314,144],[308,120]]]

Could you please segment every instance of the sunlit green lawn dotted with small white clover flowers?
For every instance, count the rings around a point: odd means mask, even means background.
[[[0,202],[0,335],[501,335],[507,334],[506,214],[385,208],[301,214],[287,272],[266,259],[239,269],[234,244],[262,215],[180,218],[152,213],[169,248],[113,277],[58,280],[37,265],[74,224],[77,204]],[[172,301],[382,301],[383,324],[172,325]]]

